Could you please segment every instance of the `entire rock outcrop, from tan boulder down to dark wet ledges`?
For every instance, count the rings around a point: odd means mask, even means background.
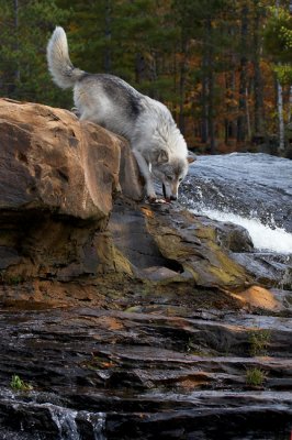
[[[288,432],[291,302],[243,228],[145,204],[127,143],[66,110],[1,99],[0,145],[5,439]]]

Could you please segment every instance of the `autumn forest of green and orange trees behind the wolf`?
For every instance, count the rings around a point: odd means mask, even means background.
[[[47,72],[55,25],[75,66],[166,103],[195,152],[291,155],[292,1],[0,0],[0,96],[72,107]]]

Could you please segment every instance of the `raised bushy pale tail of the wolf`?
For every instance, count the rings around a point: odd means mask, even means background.
[[[47,45],[48,69],[54,82],[63,89],[72,87],[85,74],[75,68],[69,58],[67,36],[63,28],[57,26]]]

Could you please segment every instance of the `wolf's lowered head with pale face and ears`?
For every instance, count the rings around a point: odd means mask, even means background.
[[[187,176],[189,163],[194,157],[171,157],[166,150],[161,150],[151,162],[151,173],[161,182],[166,200],[177,200],[179,185]]]

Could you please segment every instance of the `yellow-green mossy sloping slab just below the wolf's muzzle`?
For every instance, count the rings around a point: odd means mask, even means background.
[[[178,261],[198,285],[235,287],[250,282],[244,267],[216,244],[215,230],[191,213],[151,215],[147,216],[147,223],[164,256]]]

